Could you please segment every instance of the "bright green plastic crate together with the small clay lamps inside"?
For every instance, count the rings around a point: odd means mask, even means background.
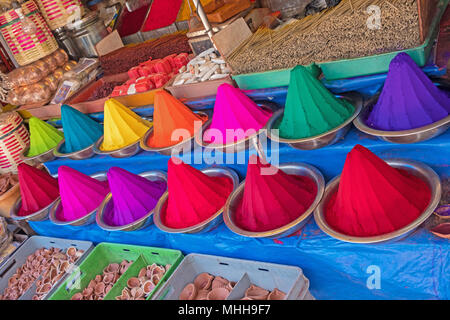
[[[152,276],[159,279],[158,281],[153,279],[157,283],[145,298],[145,294],[141,295],[140,293],[143,289],[139,287],[135,287],[133,290],[134,297],[127,296],[127,298],[150,299],[153,293],[166,282],[182,259],[183,255],[178,250],[100,243],[80,264],[80,270],[73,272],[49,299],[88,300],[91,297],[91,300],[115,300],[119,294],[126,295],[123,291],[128,291],[126,290],[128,281],[130,278],[139,277],[140,270],[144,266],[150,265],[151,267],[152,264],[164,266],[164,273],[161,267],[152,268],[152,271],[155,271]],[[80,275],[80,286],[77,287],[74,285],[73,279]],[[133,285],[133,283],[130,284]],[[139,294],[136,296],[137,293]]]

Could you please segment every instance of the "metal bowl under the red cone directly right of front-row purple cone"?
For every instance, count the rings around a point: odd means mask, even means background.
[[[236,189],[236,187],[239,184],[239,177],[234,172],[234,170],[226,167],[210,167],[201,170],[203,173],[207,174],[211,177],[227,177],[230,178],[233,181],[233,190]],[[170,228],[162,222],[161,216],[165,214],[167,209],[167,199],[169,196],[169,192],[166,192],[162,195],[162,197],[159,199],[158,204],[155,207],[155,214],[153,216],[153,220],[155,222],[155,225],[158,227],[158,229],[168,232],[168,233],[204,233],[212,230],[215,228],[220,222],[222,222],[222,212],[225,208],[223,206],[220,208],[216,213],[214,213],[209,219],[202,221],[196,225],[193,225],[191,227],[182,228],[182,229],[174,229]]]

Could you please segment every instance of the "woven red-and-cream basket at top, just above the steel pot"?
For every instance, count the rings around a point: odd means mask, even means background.
[[[41,13],[51,30],[65,26],[69,21],[72,10],[80,8],[80,17],[84,15],[84,6],[80,0],[36,0]]]

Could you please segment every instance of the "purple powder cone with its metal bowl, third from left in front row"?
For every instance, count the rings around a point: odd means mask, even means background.
[[[108,170],[111,193],[97,214],[97,224],[109,231],[135,230],[151,223],[151,215],[167,190],[162,172],[133,174],[118,167]],[[147,221],[148,220],[148,221]]]

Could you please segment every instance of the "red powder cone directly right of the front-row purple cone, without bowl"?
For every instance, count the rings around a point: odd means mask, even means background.
[[[173,159],[168,162],[167,186],[169,199],[162,220],[175,229],[209,219],[225,205],[233,191],[230,178],[210,177],[183,162],[175,163]]]

